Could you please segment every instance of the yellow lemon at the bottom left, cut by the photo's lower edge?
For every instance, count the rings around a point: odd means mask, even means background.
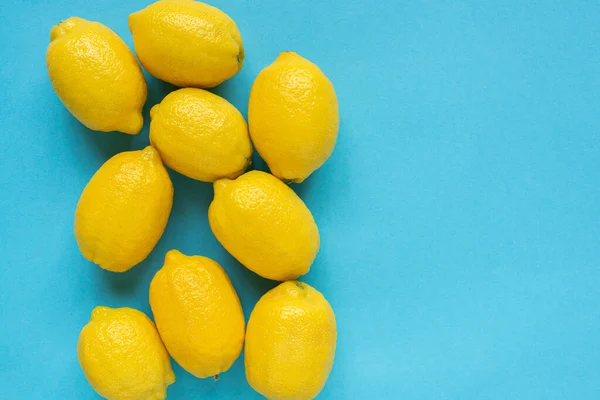
[[[81,330],[79,363],[109,400],[164,400],[175,382],[171,360],[152,321],[132,308],[96,307]]]

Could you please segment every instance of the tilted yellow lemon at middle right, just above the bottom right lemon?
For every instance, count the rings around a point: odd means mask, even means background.
[[[319,251],[319,230],[292,189],[261,171],[218,180],[214,189],[210,227],[240,263],[278,281],[308,272]]]

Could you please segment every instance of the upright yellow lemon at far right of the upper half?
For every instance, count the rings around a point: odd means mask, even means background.
[[[252,85],[248,124],[254,146],[271,173],[302,182],[335,147],[339,112],[333,85],[307,59],[281,53]]]

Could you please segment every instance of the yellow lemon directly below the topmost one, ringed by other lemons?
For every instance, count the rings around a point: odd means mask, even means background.
[[[202,89],[167,95],[150,111],[150,142],[169,167],[192,179],[237,178],[248,167],[252,143],[242,114]]]

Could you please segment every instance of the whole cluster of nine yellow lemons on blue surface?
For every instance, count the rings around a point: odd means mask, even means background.
[[[150,285],[156,325],[131,308],[97,307],[78,355],[104,398],[166,398],[170,356],[206,378],[227,371],[245,347],[249,384],[269,399],[312,399],[323,389],[336,346],[327,300],[296,281],[320,246],[304,202],[286,183],[302,182],[331,155],[338,134],[334,88],[310,61],[282,53],[256,78],[248,125],[225,99],[202,88],[231,78],[244,60],[242,37],[221,10],[193,0],[160,0],[129,17],[135,53],[153,76],[183,87],[151,112],[151,146],[115,155],[85,187],[75,237],[88,260],[123,272],[144,260],[171,212],[163,165],[214,182],[208,210],[218,241],[241,264],[277,281],[244,320],[221,266],[177,250]],[[106,26],[72,17],[52,28],[52,85],[67,109],[98,131],[137,134],[147,86],[132,51]],[[245,172],[253,144],[271,173]]]

